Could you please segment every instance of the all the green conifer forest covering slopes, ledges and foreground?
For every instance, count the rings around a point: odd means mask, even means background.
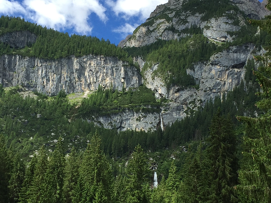
[[[202,20],[235,11],[227,2],[220,1],[221,12],[210,8]],[[270,0],[266,8],[271,10]],[[154,75],[168,89],[199,88],[187,70],[231,46],[253,43],[265,50],[253,53],[244,79],[232,91],[187,109],[184,119],[154,131],[107,129],[88,119],[129,110],[159,114],[169,99],[157,99],[146,84],[121,91],[99,86],[78,101],[65,91],[25,96],[22,85],[0,84],[0,203],[271,202],[271,15],[246,20],[247,30],[231,42],[215,43],[191,26],[179,39],[120,48],[103,38],[0,17],[0,37],[15,31],[37,35],[23,48],[0,42],[0,56],[57,60],[103,55],[135,66],[143,79],[157,63]],[[143,67],[134,60],[139,55],[147,61]]]

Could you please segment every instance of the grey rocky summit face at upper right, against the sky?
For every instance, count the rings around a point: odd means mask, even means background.
[[[206,12],[193,10],[193,5],[187,8],[188,2],[169,0],[168,3],[157,6],[150,18],[131,36],[121,41],[119,46],[140,47],[154,43],[157,39],[181,38],[189,35],[187,29],[191,27],[201,28],[203,34],[210,39],[220,42],[232,41],[235,37],[234,32],[246,25],[247,17],[260,19],[270,14],[258,0],[231,0],[230,4],[235,6],[232,11],[205,19]]]

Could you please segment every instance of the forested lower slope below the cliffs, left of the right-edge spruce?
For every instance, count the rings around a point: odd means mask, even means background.
[[[117,132],[82,120],[86,115],[102,113],[101,109],[113,108],[116,104],[112,103],[117,102],[125,108],[135,108],[132,104],[141,108],[144,103],[157,108],[153,92],[144,86],[126,92],[99,88],[77,108],[63,91],[50,99],[42,94],[36,99],[23,99],[18,93],[20,87],[4,90],[1,86],[2,199],[5,202],[7,199],[12,199],[10,202],[164,203],[185,202],[185,199],[234,202],[229,198],[238,197],[233,190],[237,184],[234,171],[239,169],[236,161],[242,164],[240,137],[244,127],[235,115],[254,115],[257,110],[254,93],[259,88],[252,75],[254,61],[246,68],[245,83],[228,93],[227,98],[209,101],[193,116],[154,132]],[[217,125],[221,128],[216,128]],[[233,144],[237,144],[236,148]],[[216,147],[224,151],[215,153],[214,157],[212,151]],[[34,150],[38,150],[37,155]],[[16,152],[20,153],[19,157]],[[64,159],[66,153],[69,156]],[[162,180],[157,188],[150,190],[153,177],[149,168],[155,164],[159,164],[156,172],[158,180]],[[226,166],[227,171],[217,173],[215,166],[220,169]]]

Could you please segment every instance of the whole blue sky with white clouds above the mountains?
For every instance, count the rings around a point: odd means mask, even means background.
[[[261,2],[262,0],[260,0]],[[69,34],[116,45],[168,0],[0,0],[0,15],[19,16]]]

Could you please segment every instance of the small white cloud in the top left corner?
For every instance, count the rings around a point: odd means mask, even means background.
[[[13,15],[14,13],[26,13],[19,2],[0,0],[0,14]]]

